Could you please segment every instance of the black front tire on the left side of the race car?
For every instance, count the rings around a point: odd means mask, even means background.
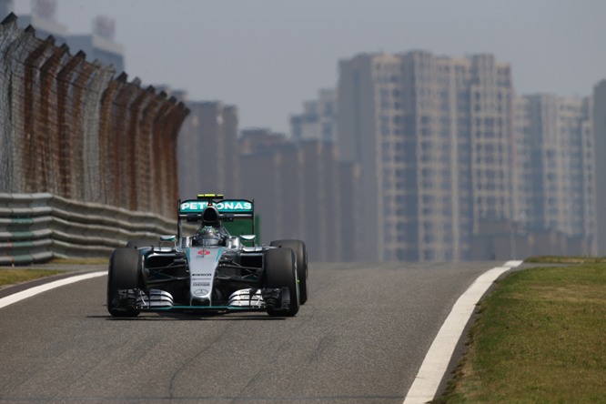
[[[107,271],[107,311],[113,317],[136,317],[136,292],[143,285],[143,256],[134,248],[116,248]]]

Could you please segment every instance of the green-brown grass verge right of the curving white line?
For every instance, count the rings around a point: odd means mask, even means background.
[[[501,280],[433,402],[606,402],[606,264],[528,268]]]

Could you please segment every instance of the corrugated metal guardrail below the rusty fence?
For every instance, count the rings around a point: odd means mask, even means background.
[[[46,193],[0,193],[0,265],[108,257],[130,239],[176,232],[176,219],[157,214]]]

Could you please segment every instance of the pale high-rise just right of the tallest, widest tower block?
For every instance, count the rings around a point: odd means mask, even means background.
[[[596,254],[591,100],[553,95],[515,102],[514,212],[531,254]],[[565,237],[556,251],[550,237]]]

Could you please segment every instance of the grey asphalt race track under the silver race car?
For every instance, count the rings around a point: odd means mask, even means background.
[[[311,263],[295,318],[116,319],[106,277],[81,280],[0,308],[0,402],[402,403],[455,303],[501,264]]]

